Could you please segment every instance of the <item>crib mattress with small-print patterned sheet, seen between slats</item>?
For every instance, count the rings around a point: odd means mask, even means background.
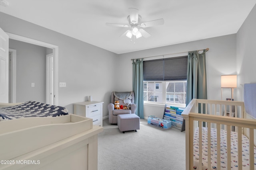
[[[226,131],[220,131],[220,169],[227,170],[227,146],[226,146]],[[231,170],[238,170],[238,133],[231,132]],[[207,145],[207,127],[202,127],[202,170],[206,170],[208,166],[208,145]],[[199,163],[199,130],[196,128],[194,133],[194,169]],[[256,148],[254,147],[254,154],[256,153]],[[217,130],[211,129],[211,170],[217,170]],[[254,157],[254,162],[256,162],[256,157]],[[242,135],[242,170],[249,170],[249,139]],[[256,166],[254,163],[254,170]]]

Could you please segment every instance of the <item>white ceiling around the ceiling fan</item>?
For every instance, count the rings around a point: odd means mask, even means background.
[[[2,1],[2,0],[0,0]],[[4,0],[0,12],[74,37],[117,54],[237,33],[256,0]],[[121,36],[128,8],[142,22],[163,18],[164,25],[144,28],[152,36],[135,44]]]

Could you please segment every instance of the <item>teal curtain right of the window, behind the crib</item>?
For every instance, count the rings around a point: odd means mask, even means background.
[[[192,99],[207,99],[205,53],[188,52],[186,105]]]

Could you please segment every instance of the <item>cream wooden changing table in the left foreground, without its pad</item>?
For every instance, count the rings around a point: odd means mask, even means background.
[[[102,131],[73,114],[0,121],[0,170],[97,170]]]

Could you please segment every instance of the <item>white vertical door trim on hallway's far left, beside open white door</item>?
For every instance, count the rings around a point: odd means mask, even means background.
[[[16,49],[9,49],[9,52],[12,53],[11,55],[11,64],[12,64],[12,84],[11,84],[11,102],[16,103]]]

